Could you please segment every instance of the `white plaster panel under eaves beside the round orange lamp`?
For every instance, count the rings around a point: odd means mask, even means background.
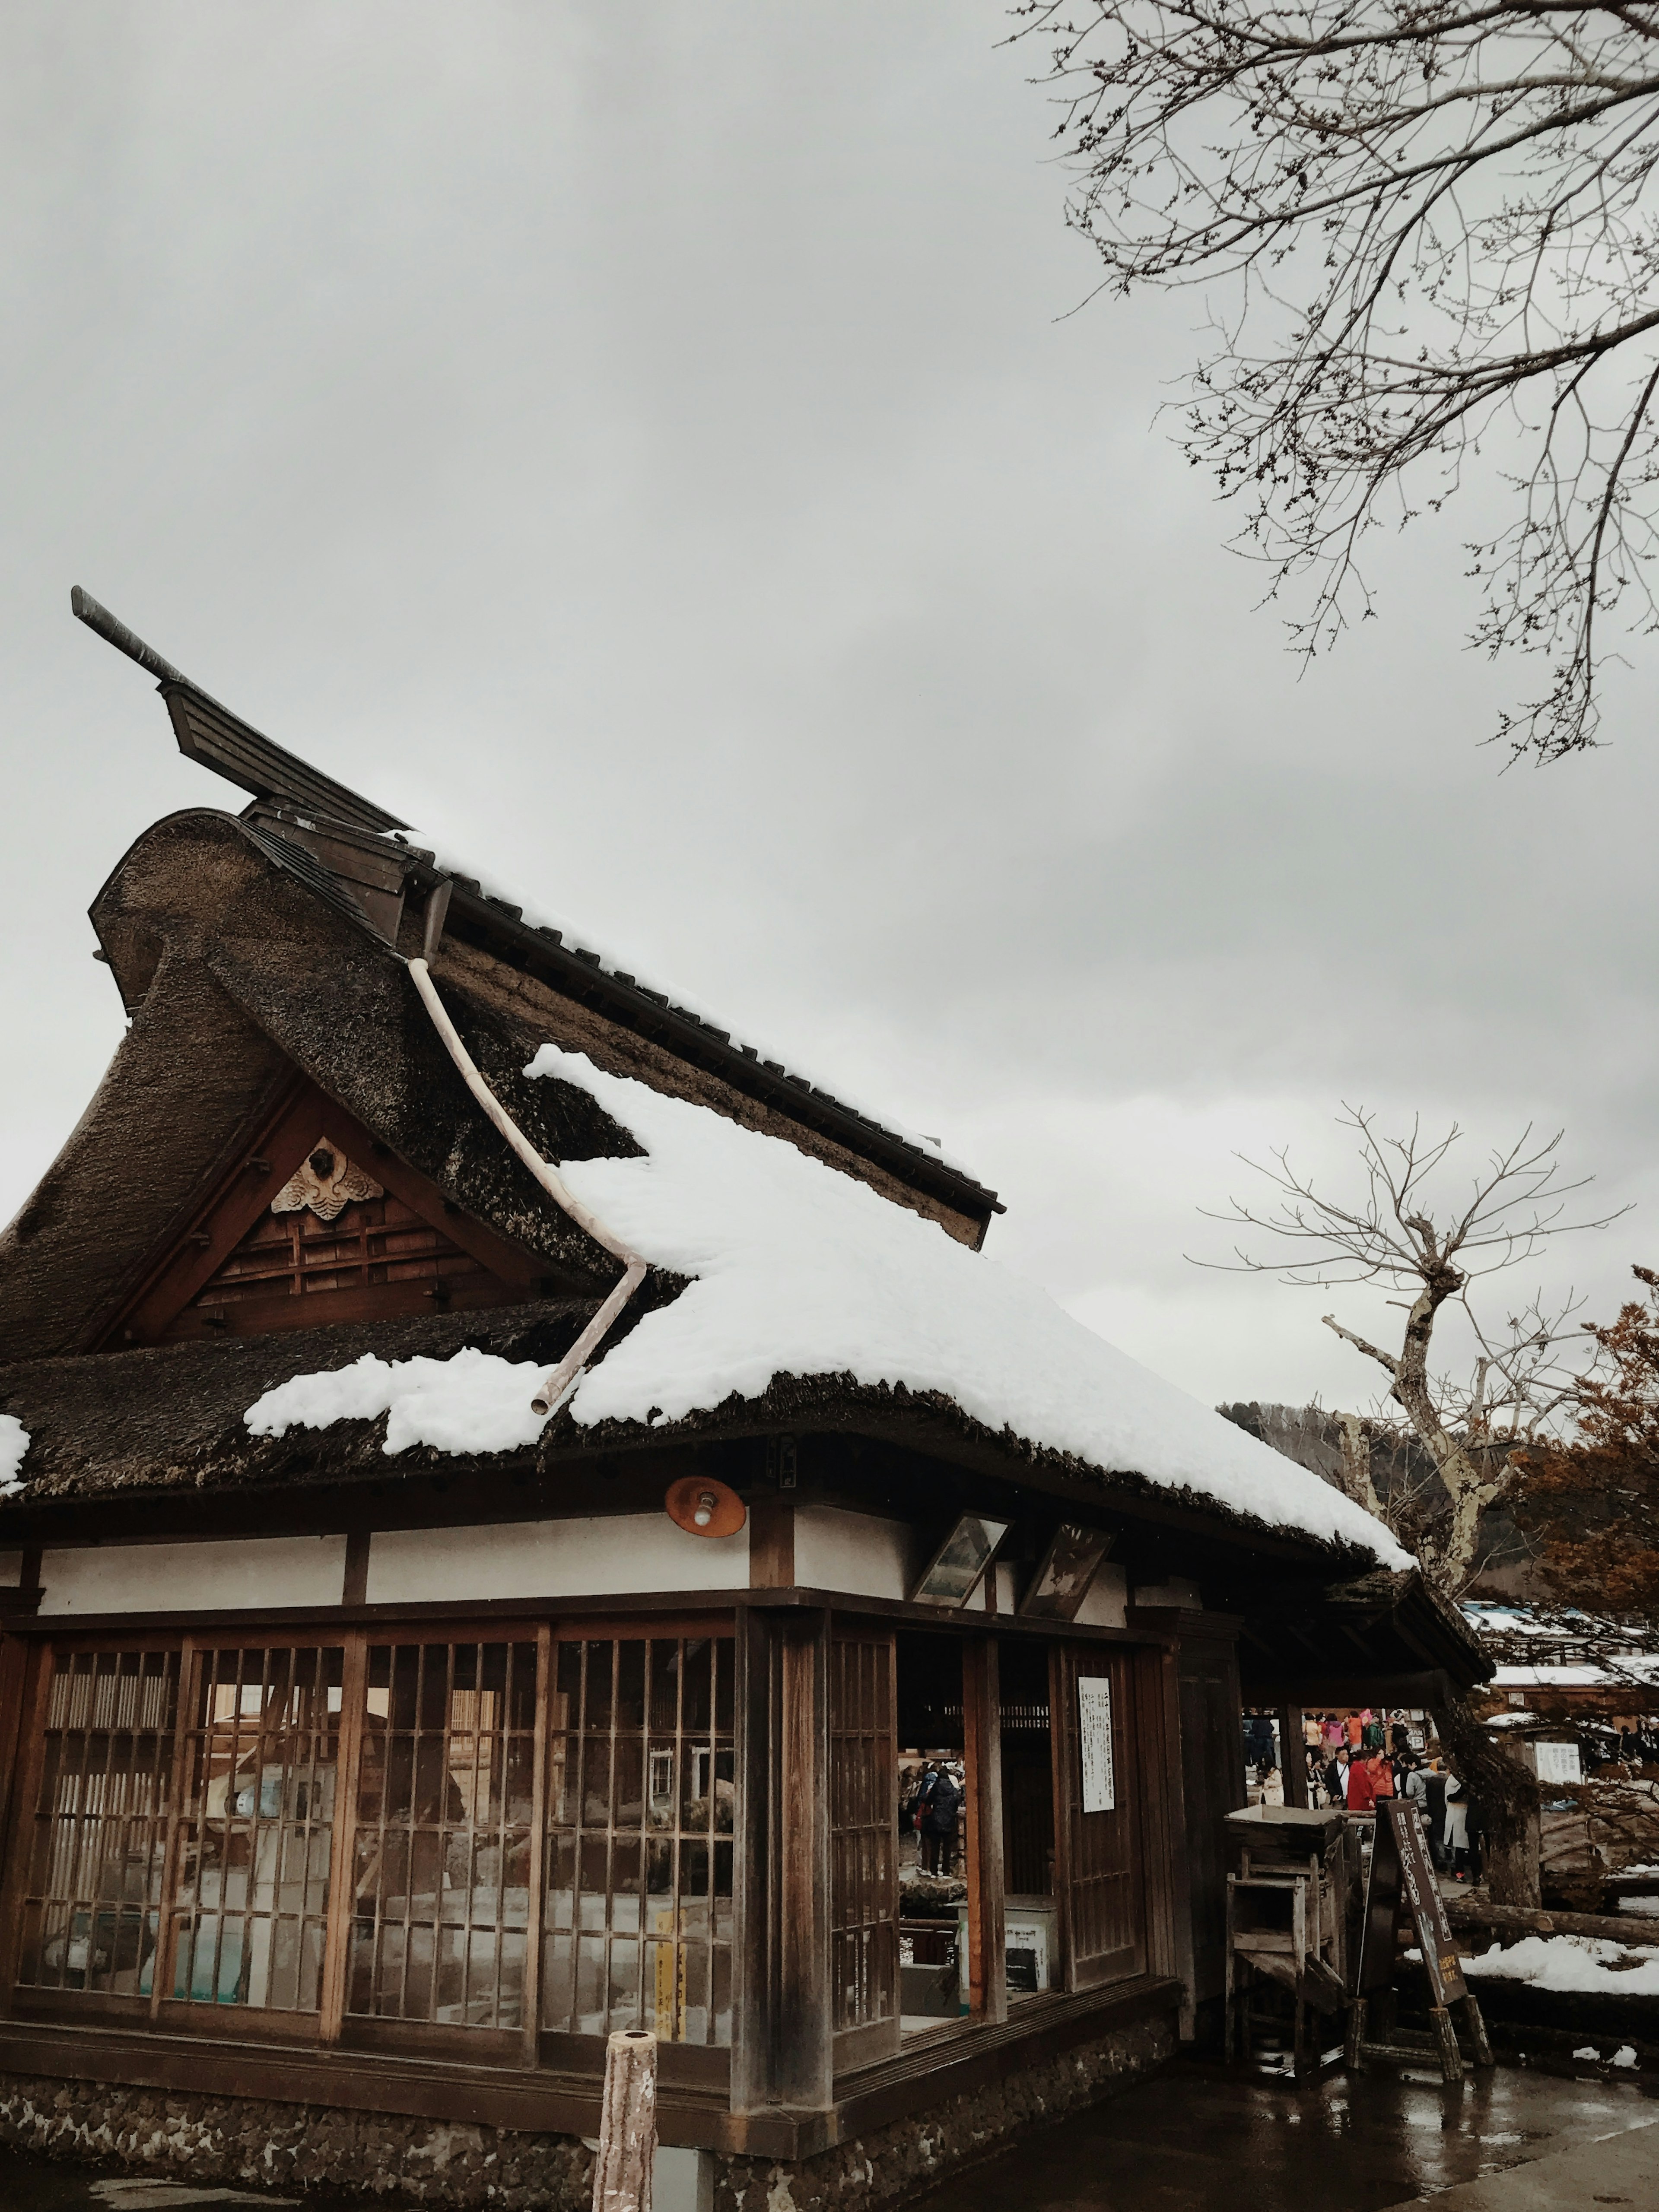
[[[380,1528],[369,1537],[372,1606],[741,1590],[748,1579],[748,1522],[737,1535],[706,1537],[666,1513],[599,1513],[493,1528]]]

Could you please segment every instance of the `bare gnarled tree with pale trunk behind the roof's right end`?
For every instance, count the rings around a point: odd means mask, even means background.
[[[1276,1256],[1234,1250],[1225,1265],[1250,1274],[1274,1274],[1303,1290],[1343,1283],[1380,1283],[1409,1292],[1398,1352],[1374,1345],[1336,1314],[1325,1327],[1354,1345],[1389,1376],[1385,1405],[1400,1409],[1411,1433],[1427,1449],[1444,1484],[1451,1511],[1427,1517],[1422,1500],[1380,1500],[1369,1473],[1365,1416],[1340,1416],[1345,1489],[1369,1511],[1418,1540],[1425,1575],[1458,1597],[1478,1568],[1480,1515],[1509,1486],[1509,1451],[1533,1442],[1553,1416],[1575,1400],[1577,1369],[1568,1347],[1584,1343],[1568,1321],[1577,1301],[1546,1312],[1533,1298],[1509,1316],[1506,1329],[1489,1329],[1478,1318],[1469,1287],[1482,1276],[1531,1261],[1551,1237],[1604,1228],[1601,1219],[1564,1219],[1566,1201],[1588,1177],[1559,1181],[1559,1133],[1533,1141],[1522,1130],[1506,1152],[1493,1152],[1473,1177],[1467,1199],[1438,1217],[1429,1212],[1427,1183],[1458,1144],[1453,1126],[1444,1137],[1425,1139],[1418,1121],[1405,1137],[1383,1137],[1376,1115],[1345,1106],[1338,1126],[1354,1130],[1360,1157],[1360,1190],[1336,1199],[1314,1188],[1312,1177],[1290,1164],[1290,1152],[1272,1164],[1245,1161],[1276,1197],[1263,1210],[1230,1201],[1210,1219],[1243,1225],[1279,1241]],[[1292,1250],[1283,1250],[1290,1245]],[[1429,1363],[1440,1312],[1458,1303],[1475,1334],[1478,1356],[1467,1383],[1438,1376]],[[1582,1365],[1582,1363],[1579,1363]],[[1369,1416],[1371,1420],[1378,1413]],[[1387,1411],[1383,1413],[1387,1420]]]

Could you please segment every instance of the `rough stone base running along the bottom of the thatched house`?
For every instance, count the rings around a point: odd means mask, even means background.
[[[1175,2053],[1175,2024],[1115,2028],[799,2163],[712,2154],[714,2212],[889,2212],[1018,2135],[1097,2104]],[[925,2086],[918,2086],[925,2095]],[[568,2135],[0,2075],[0,2141],[53,2159],[394,2212],[588,2212],[593,2152]]]

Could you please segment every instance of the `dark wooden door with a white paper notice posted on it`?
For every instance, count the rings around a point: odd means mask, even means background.
[[[1133,1655],[1060,1644],[1053,1659],[1055,1887],[1066,1922],[1066,1989],[1097,1989],[1146,1971],[1141,1774],[1135,1756]],[[1106,1712],[1106,1703],[1110,1710]],[[1110,1805],[1086,1812],[1082,1710],[1108,1728]]]

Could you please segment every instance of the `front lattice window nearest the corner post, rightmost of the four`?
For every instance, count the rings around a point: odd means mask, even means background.
[[[732,2039],[732,1644],[557,1646],[542,2026]]]

